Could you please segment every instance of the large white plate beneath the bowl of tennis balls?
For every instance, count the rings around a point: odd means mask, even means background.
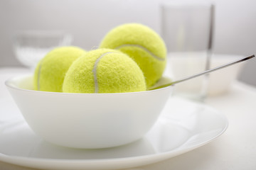
[[[227,127],[228,120],[215,109],[170,98],[143,139],[109,149],[71,149],[41,140],[24,122],[13,101],[0,101],[0,161],[38,169],[127,169],[201,147]]]

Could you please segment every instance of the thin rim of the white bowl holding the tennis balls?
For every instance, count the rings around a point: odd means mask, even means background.
[[[105,94],[86,94],[86,93],[65,93],[65,92],[53,92],[53,91],[36,91],[36,90],[31,90],[31,89],[22,89],[18,86],[14,86],[12,84],[12,81],[15,81],[15,79],[24,79],[26,77],[32,77],[33,74],[23,74],[15,77],[11,77],[9,79],[6,79],[4,84],[9,87],[10,89],[15,89],[18,91],[27,91],[30,93],[37,93],[37,94],[49,94],[49,95],[75,95],[75,96],[120,96],[120,95],[135,95],[135,94],[151,94],[151,93],[156,93],[156,91],[165,91],[166,89],[171,89],[173,88],[174,85],[171,86],[166,86],[160,89],[154,89],[154,90],[146,90],[146,91],[135,91],[135,92],[124,92],[124,93],[105,93]]]

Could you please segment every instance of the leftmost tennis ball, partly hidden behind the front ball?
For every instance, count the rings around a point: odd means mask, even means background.
[[[38,62],[33,86],[38,91],[62,92],[63,80],[70,65],[85,54],[79,47],[57,47]]]

